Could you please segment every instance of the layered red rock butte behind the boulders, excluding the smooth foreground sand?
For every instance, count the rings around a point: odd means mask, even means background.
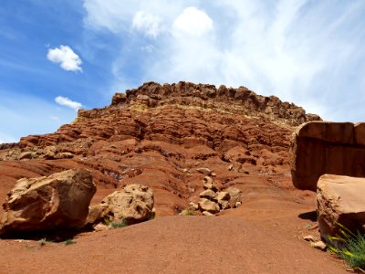
[[[55,133],[3,146],[0,181],[10,185],[19,174],[35,177],[84,167],[99,185],[95,203],[112,192],[108,188],[144,184],[154,191],[157,215],[172,215],[202,191],[199,167],[214,171],[219,188],[241,184],[248,176],[266,175],[273,184],[289,181],[293,127],[318,119],[243,87],[150,82],[117,93],[108,107],[78,111],[75,121]],[[24,152],[31,159],[19,161]]]

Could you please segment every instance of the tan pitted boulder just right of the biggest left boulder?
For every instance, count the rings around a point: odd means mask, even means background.
[[[154,198],[151,188],[141,184],[128,184],[106,196],[100,205],[89,208],[87,223],[95,225],[100,221],[140,223],[149,220],[153,212]]]

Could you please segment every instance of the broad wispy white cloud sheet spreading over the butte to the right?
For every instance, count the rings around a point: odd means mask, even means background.
[[[344,95],[365,102],[361,0],[111,2],[84,0],[88,26],[96,32],[109,29],[120,37],[121,48],[128,36],[129,48],[156,49],[120,50],[110,68],[118,72],[114,86],[125,87],[126,79],[135,79],[127,86],[145,80],[245,85],[294,101],[325,119],[360,120],[365,115]],[[139,17],[145,21],[136,27]],[[146,18],[159,18],[159,23]],[[144,41],[141,32],[152,26],[159,29],[151,32],[159,38]],[[137,67],[128,66],[130,55],[139,55]]]

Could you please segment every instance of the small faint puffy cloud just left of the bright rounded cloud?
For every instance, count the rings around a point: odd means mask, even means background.
[[[139,11],[133,16],[132,27],[143,32],[147,37],[157,37],[162,32],[160,16]]]

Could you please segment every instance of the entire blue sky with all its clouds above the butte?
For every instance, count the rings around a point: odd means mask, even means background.
[[[364,121],[363,0],[3,0],[0,142],[144,81],[245,86]]]

